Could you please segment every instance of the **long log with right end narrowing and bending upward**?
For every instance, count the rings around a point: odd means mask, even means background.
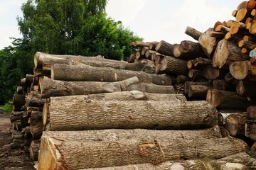
[[[126,91],[128,86],[137,84],[139,79],[137,77],[132,77],[117,82],[100,82],[59,81],[49,79],[48,77],[41,77],[39,81],[42,98],[49,98],[50,96],[71,96]]]

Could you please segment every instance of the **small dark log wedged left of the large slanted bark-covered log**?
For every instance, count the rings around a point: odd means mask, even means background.
[[[211,64],[213,61],[206,58],[198,57],[194,60],[188,60],[187,67],[188,69],[202,69],[207,65]]]

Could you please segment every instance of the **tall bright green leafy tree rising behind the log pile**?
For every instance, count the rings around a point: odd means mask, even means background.
[[[121,60],[132,52],[130,41],[142,39],[107,18],[106,4],[107,0],[28,0],[18,26],[34,51]]]

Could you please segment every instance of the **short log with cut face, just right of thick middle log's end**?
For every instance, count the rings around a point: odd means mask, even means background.
[[[247,113],[231,113],[225,120],[225,128],[233,137],[245,136]]]

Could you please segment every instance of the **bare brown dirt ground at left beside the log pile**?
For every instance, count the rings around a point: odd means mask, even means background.
[[[24,149],[11,149],[10,114],[0,114],[0,169],[32,170],[33,162]]]

